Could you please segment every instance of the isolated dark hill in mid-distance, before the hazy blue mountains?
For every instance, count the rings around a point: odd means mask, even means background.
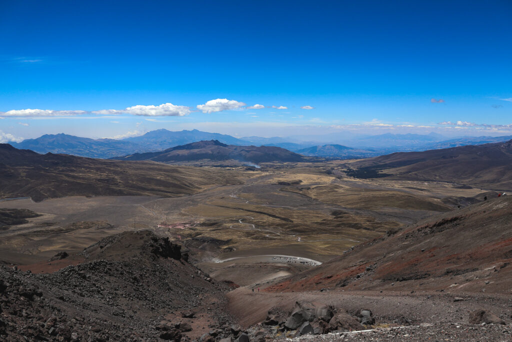
[[[306,158],[300,154],[273,146],[236,146],[226,145],[218,140],[176,146],[160,152],[135,153],[121,160],[154,160],[155,162],[182,162],[192,160],[240,160],[250,163],[264,162],[303,162]]]

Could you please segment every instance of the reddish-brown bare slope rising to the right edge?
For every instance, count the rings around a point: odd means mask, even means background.
[[[512,197],[503,196],[389,231],[268,290],[510,294],[511,207]]]

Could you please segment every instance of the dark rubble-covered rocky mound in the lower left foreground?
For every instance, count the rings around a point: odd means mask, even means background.
[[[222,310],[229,288],[168,238],[124,232],[73,257],[86,261],[51,274],[0,266],[1,340],[179,340],[190,329],[191,337],[204,333],[207,321],[229,322]],[[185,311],[196,318],[182,318]]]

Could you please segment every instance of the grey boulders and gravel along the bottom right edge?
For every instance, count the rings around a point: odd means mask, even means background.
[[[509,341],[512,325],[488,310],[475,310],[469,319],[454,323],[411,324],[402,317],[390,323],[378,322],[371,310],[355,315],[347,310],[306,301],[295,303],[283,316],[278,308],[269,311],[262,324],[249,329],[253,340],[293,341]]]

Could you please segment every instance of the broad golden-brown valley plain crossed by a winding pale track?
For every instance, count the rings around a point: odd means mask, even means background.
[[[197,190],[178,197],[3,202],[0,206],[27,208],[46,216],[31,219],[32,225],[1,231],[0,253],[9,250],[47,257],[63,249],[81,250],[115,232],[152,229],[181,242],[193,238],[221,240],[216,253],[226,252],[221,253],[224,258],[244,250],[259,249],[264,254],[279,248],[295,251],[297,256],[326,258],[390,229],[452,210],[453,206],[443,202],[447,197],[473,197],[484,192],[458,189],[445,182],[356,179],[343,173],[347,163],[265,165],[256,171],[173,166],[176,175]],[[213,176],[210,180],[209,175]],[[70,224],[87,221],[104,221],[113,227],[69,230]],[[45,222],[49,226],[41,226]],[[194,227],[157,228],[162,222],[194,223]],[[62,227],[68,230],[62,231]]]

